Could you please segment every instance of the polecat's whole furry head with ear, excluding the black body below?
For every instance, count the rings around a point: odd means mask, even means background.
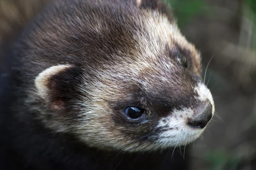
[[[214,114],[200,54],[157,0],[113,2],[57,1],[35,20],[16,51],[27,105],[90,147],[194,141]]]

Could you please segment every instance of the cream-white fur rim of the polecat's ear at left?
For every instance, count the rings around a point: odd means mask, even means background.
[[[56,65],[56,66],[47,68],[44,71],[42,71],[40,74],[38,74],[38,76],[35,78],[35,87],[37,89],[38,95],[46,99],[48,95],[47,92],[49,91],[47,87],[49,83],[49,79],[52,76],[70,67],[71,65]]]

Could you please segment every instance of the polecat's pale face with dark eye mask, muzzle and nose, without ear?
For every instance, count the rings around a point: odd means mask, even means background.
[[[97,73],[92,101],[80,101],[91,105],[89,112],[81,109],[89,120],[77,131],[82,140],[140,151],[185,145],[204,131],[214,103],[201,79],[200,56],[175,25],[155,22],[148,23],[149,34],[138,37],[135,57],[128,57],[133,59]]]

